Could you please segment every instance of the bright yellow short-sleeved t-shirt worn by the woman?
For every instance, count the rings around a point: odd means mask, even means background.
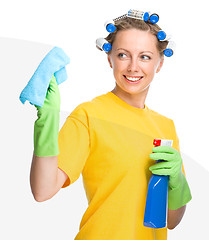
[[[112,92],[73,110],[59,133],[58,167],[70,179],[63,187],[83,176],[88,208],[75,240],[167,239],[167,228],[143,226],[154,138],[179,151],[171,119]]]

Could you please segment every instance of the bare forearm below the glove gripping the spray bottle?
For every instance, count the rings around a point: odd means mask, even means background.
[[[176,210],[168,209],[167,227],[168,229],[174,229],[184,216],[186,205]]]

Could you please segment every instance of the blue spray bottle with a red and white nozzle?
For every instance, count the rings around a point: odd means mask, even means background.
[[[153,145],[172,146],[173,140],[154,139]],[[158,160],[160,162],[163,160]],[[144,226],[150,228],[164,228],[167,221],[169,176],[153,174],[149,181],[147,201],[144,213]]]

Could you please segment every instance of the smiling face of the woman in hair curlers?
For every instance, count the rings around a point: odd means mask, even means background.
[[[128,29],[117,33],[108,55],[116,91],[126,96],[147,93],[163,64],[156,44],[157,39],[150,32]]]

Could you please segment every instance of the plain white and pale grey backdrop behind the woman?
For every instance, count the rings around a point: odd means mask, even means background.
[[[209,213],[207,2],[191,1],[7,1],[0,3],[1,191],[0,237],[74,239],[87,200],[80,177],[44,203],[34,201],[29,171],[36,110],[19,101],[40,61],[58,46],[70,57],[68,80],[60,85],[61,122],[80,103],[111,91],[114,78],[106,54],[95,47],[106,37],[104,22],[129,9],[159,13],[171,33],[175,55],[152,82],[146,105],[174,120],[193,200],[168,239],[207,234]],[[206,187],[204,187],[206,186]]]

